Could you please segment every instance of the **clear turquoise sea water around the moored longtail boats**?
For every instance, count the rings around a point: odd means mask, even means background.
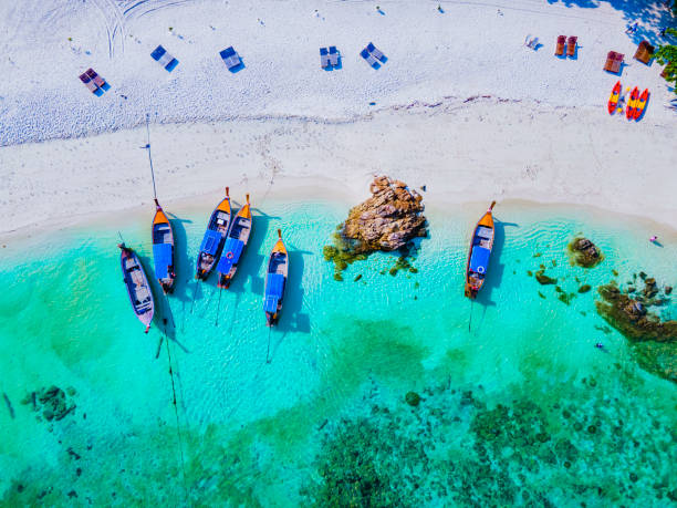
[[[152,211],[6,249],[0,390],[13,417],[3,404],[0,505],[677,499],[677,386],[637,366],[596,314],[594,289],[577,293],[639,270],[674,286],[675,238],[658,248],[646,240],[653,231],[617,217],[499,204],[489,282],[471,308],[462,270],[483,205],[429,211],[418,273],[392,277],[395,257],[375,255],[336,282],[322,247],[348,205],[270,203],[219,305],[213,277],[192,302],[210,210],[170,208],[180,282],[148,335],[128,308],[115,245],[121,230],[150,273]],[[261,299],[277,228],[290,249],[290,283],[267,364]],[[598,267],[569,263],[565,246],[579,232],[604,252]],[[569,304],[527,274],[541,263],[575,293]],[[670,304],[663,312],[677,314]],[[164,331],[169,351],[163,345],[156,359]],[[61,421],[30,402],[51,385],[73,388],[76,408]],[[410,391],[418,406],[406,404]]]

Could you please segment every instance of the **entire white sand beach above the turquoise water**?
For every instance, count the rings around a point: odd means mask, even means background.
[[[148,207],[146,115],[165,206],[227,185],[254,204],[292,189],[357,200],[385,173],[433,205],[570,203],[673,225],[675,95],[632,58],[674,23],[664,2],[439,4],[3,3],[0,234]],[[575,59],[553,55],[560,34],[579,38]],[[369,41],[378,70],[358,55]],[[158,44],[171,73],[149,56]],[[237,73],[218,55],[230,45]],[[341,69],[320,68],[327,45]],[[602,70],[611,50],[621,76]],[[90,66],[111,84],[102,96],[77,79]],[[650,91],[639,122],[607,113],[617,80]]]

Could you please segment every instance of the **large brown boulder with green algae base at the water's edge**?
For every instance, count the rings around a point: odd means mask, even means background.
[[[400,269],[415,273],[416,269],[407,261],[412,240],[428,234],[421,196],[405,183],[387,176],[374,178],[369,190],[372,197],[353,207],[347,219],[336,228],[333,245],[323,249],[324,259],[333,261],[340,273],[372,252],[399,250],[400,259],[389,273],[395,276]]]

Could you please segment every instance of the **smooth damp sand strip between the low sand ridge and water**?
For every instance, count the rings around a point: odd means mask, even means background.
[[[665,183],[674,179],[677,153],[654,149],[669,146],[669,129],[613,117],[601,127],[600,114],[478,97],[404,105],[348,123],[153,125],[150,145],[165,206],[207,201],[226,185],[233,199],[249,191],[254,206],[298,195],[356,205],[373,175],[386,174],[426,185],[431,207],[491,199],[582,205],[674,230],[677,207]],[[1,148],[0,238],[34,231],[44,217],[45,228],[63,228],[152,203],[145,144],[145,128],[136,128]],[[617,149],[628,145],[634,149]]]

